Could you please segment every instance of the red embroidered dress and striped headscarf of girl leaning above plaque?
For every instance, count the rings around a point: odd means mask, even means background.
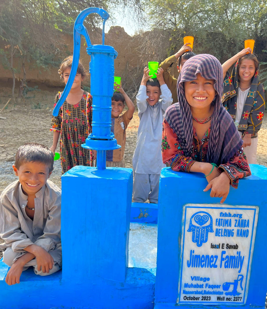
[[[213,79],[216,91],[211,127],[200,142],[184,90],[184,82],[194,80],[198,73]],[[216,163],[218,171],[225,171],[232,186],[237,188],[238,179],[251,175],[251,172],[243,153],[243,142],[231,116],[221,104],[222,87],[222,66],[214,56],[196,55],[186,61],[177,83],[178,103],[170,106],[164,115],[162,160],[172,170],[185,172],[189,172],[196,161]]]

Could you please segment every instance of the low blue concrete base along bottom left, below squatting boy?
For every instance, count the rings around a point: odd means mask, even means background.
[[[152,309],[155,276],[147,269],[128,268],[126,281],[61,281],[61,271],[41,277],[33,269],[23,272],[19,284],[8,286],[0,261],[1,309]]]

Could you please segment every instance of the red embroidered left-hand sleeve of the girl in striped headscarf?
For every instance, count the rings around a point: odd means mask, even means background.
[[[168,163],[173,171],[189,172],[191,165],[195,162],[191,157],[184,155],[177,135],[173,133],[173,129],[165,119],[163,120],[161,152],[163,163]]]

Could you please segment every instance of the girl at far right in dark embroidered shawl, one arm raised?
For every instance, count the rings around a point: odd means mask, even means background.
[[[236,63],[230,75],[227,70]],[[223,63],[222,102],[243,139],[249,164],[256,164],[258,131],[265,109],[264,90],[259,83],[259,61],[245,48]]]

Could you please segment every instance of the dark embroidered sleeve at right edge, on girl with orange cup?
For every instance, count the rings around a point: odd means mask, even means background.
[[[265,110],[264,89],[261,83],[257,87],[257,94],[248,116],[248,129],[245,133],[257,134],[261,128],[262,118]],[[246,115],[243,115],[246,116]]]

